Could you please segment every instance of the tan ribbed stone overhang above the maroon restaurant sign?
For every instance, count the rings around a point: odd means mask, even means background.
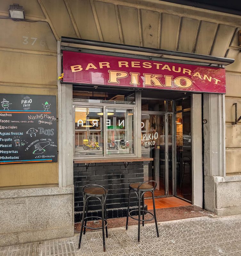
[[[0,3],[8,16],[11,1]],[[61,36],[234,58],[241,72],[241,16],[157,0],[19,0],[29,21]]]

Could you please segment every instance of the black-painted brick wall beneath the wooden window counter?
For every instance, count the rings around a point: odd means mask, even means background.
[[[123,162],[90,163],[87,172],[84,163],[74,163],[75,222],[81,221],[82,217],[82,188],[84,185],[98,184],[108,189],[107,217],[116,218],[126,216],[129,184],[133,182],[143,182],[143,162],[129,163],[126,170]],[[136,195],[132,192],[130,210],[136,209],[137,205]],[[90,199],[89,214],[101,216],[101,206],[98,199]]]

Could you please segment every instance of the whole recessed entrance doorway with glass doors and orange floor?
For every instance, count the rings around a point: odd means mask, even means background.
[[[152,98],[143,92],[141,99],[142,156],[153,158],[153,161],[144,162],[144,181],[157,182],[156,208],[191,205],[190,95],[183,97],[183,94],[179,98],[180,93],[172,93],[169,98],[160,99],[157,94]],[[152,209],[148,192],[145,204]]]

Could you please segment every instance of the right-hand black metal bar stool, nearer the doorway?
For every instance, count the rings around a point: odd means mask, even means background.
[[[149,182],[154,182],[155,186],[148,184]],[[157,216],[156,216],[156,207],[155,207],[155,199],[154,199],[154,190],[157,187],[157,182],[156,181],[144,181],[144,182],[138,182],[138,183],[132,183],[129,185],[129,198],[128,198],[128,207],[127,207],[127,217],[126,217],[126,230],[128,229],[128,218],[129,216],[133,218],[134,220],[138,220],[138,242],[140,242],[140,225],[142,221],[142,226],[144,226],[145,221],[150,221],[155,219],[156,223],[156,229],[157,229],[157,237],[159,237],[159,231],[157,227]],[[138,199],[138,219],[134,218],[131,216],[131,212],[135,211],[132,210],[130,211],[130,196],[131,196],[131,190],[133,190],[136,193],[137,199]],[[152,201],[153,201],[153,211],[154,215],[149,212],[144,210],[144,194],[149,191],[152,193]],[[141,198],[142,198],[142,210],[141,210]],[[142,212],[142,219],[141,219],[141,212]],[[149,213],[152,215],[152,218],[150,219],[144,219],[144,213]]]

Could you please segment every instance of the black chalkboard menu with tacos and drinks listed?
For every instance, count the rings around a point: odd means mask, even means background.
[[[56,96],[0,93],[0,165],[57,162]]]

